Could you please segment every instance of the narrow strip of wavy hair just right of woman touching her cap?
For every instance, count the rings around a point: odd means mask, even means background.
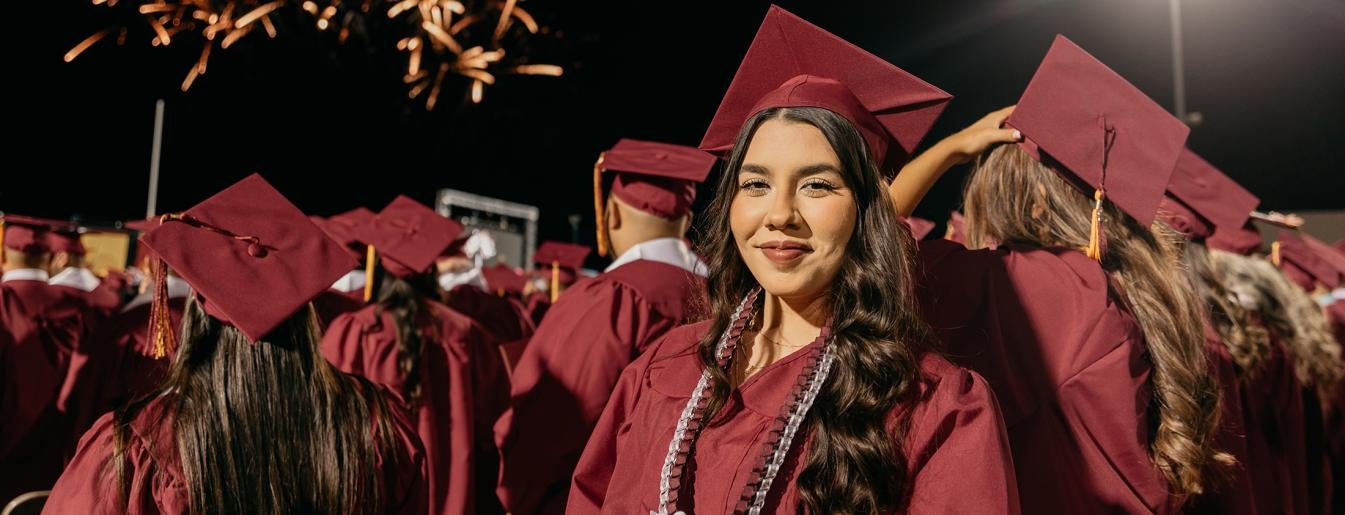
[[[1204,242],[1186,243],[1182,262],[1190,272],[1196,294],[1205,304],[1210,325],[1233,358],[1239,378],[1256,375],[1270,356],[1270,332],[1228,290]]]

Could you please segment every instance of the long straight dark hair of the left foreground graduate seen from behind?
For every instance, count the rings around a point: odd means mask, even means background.
[[[129,424],[159,397],[192,514],[377,512],[379,459],[406,454],[382,393],[320,354],[311,307],[252,343],[187,303],[167,379],[116,413],[112,468],[122,503]]]

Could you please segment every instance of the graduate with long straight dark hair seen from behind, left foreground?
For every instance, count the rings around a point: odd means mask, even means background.
[[[195,292],[174,338],[157,273],[152,339],[172,368],[94,424],[44,512],[424,512],[399,403],[319,354],[309,300],[351,266],[336,243],[257,175],[141,242]]]

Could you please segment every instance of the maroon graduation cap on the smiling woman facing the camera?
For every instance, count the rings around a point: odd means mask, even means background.
[[[822,108],[854,124],[882,171],[894,171],[950,100],[919,77],[771,5],[701,149],[728,152],[748,118],[761,110]]]

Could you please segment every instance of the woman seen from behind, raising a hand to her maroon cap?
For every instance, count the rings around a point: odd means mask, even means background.
[[[967,247],[920,246],[921,301],[948,355],[995,389],[1024,512],[1174,512],[1229,461],[1181,238],[1154,223],[1188,132],[1057,36],[1017,108],[892,183],[907,212],[976,160]]]

